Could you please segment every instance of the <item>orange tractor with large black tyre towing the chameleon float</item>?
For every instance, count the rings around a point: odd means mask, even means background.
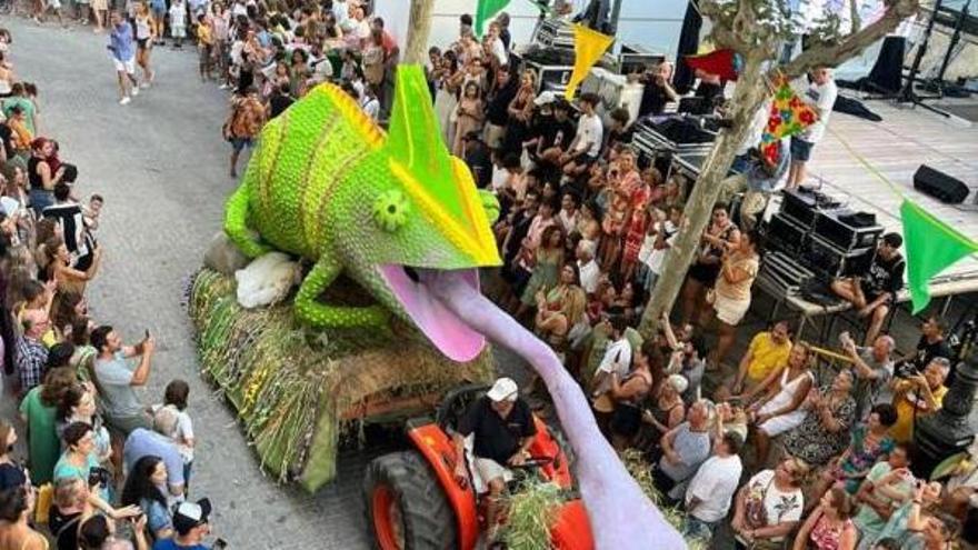
[[[413,449],[375,459],[367,469],[363,496],[373,543],[380,550],[475,550],[487,529],[485,493],[472,478],[457,479],[458,457],[451,433],[469,404],[486,393],[485,386],[452,390],[436,418],[412,419],[407,434]],[[573,490],[570,463],[559,437],[539,418],[530,458],[521,467],[530,474]],[[565,503],[550,529],[556,550],[592,550],[590,523],[580,499]]]

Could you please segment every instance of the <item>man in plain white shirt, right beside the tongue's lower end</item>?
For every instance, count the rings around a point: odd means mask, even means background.
[[[686,489],[685,534],[710,540],[727,517],[744,471],[738,454],[742,444],[740,434],[732,431],[713,442],[713,456],[700,464]]]

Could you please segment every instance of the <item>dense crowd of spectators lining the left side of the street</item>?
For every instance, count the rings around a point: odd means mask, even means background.
[[[3,96],[0,367],[20,418],[0,418],[0,548],[202,549],[210,503],[187,500],[189,387],[140,398],[156,341],[147,330],[123,344],[86,299],[104,200],[78,200],[87,181],[48,137],[37,88],[14,81]]]

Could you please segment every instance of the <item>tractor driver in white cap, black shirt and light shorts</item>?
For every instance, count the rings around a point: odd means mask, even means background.
[[[479,477],[489,486],[486,503],[486,522],[489,526],[489,540],[496,532],[498,500],[506,490],[506,478],[510,477],[507,466],[521,466],[527,460],[527,450],[533,441],[537,428],[533,416],[526,401],[519,397],[519,388],[509,378],[500,378],[492,384],[486,397],[469,407],[452,436],[456,456],[465,457],[465,438],[473,434],[475,468]],[[456,463],[456,476],[468,482],[466,461]]]

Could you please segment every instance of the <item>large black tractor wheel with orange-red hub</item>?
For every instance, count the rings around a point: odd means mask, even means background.
[[[370,462],[363,479],[363,497],[375,548],[458,548],[455,512],[441,483],[417,452],[395,452]]]

